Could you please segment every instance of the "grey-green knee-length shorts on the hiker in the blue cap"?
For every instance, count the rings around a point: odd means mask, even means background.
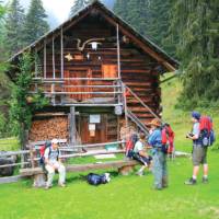
[[[207,147],[193,146],[193,165],[207,164]]]

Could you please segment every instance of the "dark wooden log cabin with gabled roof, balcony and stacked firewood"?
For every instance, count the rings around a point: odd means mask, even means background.
[[[35,112],[30,140],[70,143],[119,139],[120,122],[142,131],[159,116],[160,74],[177,62],[99,1],[15,54],[35,54],[34,84],[49,105]],[[8,72],[14,79],[14,71]]]

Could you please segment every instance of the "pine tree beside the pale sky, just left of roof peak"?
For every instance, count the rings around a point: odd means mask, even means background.
[[[33,43],[49,31],[46,19],[47,15],[42,0],[32,0],[23,28],[23,42],[25,45]]]

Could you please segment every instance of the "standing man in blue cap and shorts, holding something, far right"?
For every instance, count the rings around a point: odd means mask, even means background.
[[[198,112],[192,113],[193,130],[186,135],[187,139],[193,140],[193,176],[185,182],[186,185],[195,185],[197,183],[197,175],[199,165],[203,164],[204,176],[203,183],[208,183],[208,164],[207,164],[207,147],[203,146],[199,130],[200,114]]]

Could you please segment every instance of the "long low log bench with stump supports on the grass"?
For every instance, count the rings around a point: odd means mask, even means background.
[[[88,172],[93,170],[103,170],[103,169],[117,169],[120,174],[128,175],[135,165],[138,165],[139,162],[135,160],[119,160],[119,161],[108,161],[103,163],[88,163],[88,164],[69,164],[66,165],[67,172]],[[34,187],[45,186],[46,174],[42,168],[28,168],[20,170],[21,176],[33,176],[34,177]]]

